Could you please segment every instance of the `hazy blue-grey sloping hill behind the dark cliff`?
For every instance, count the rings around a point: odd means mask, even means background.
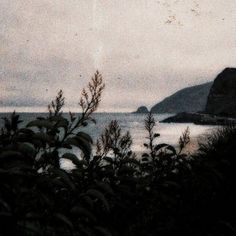
[[[204,111],[213,82],[187,87],[165,98],[151,108],[153,113]]]

